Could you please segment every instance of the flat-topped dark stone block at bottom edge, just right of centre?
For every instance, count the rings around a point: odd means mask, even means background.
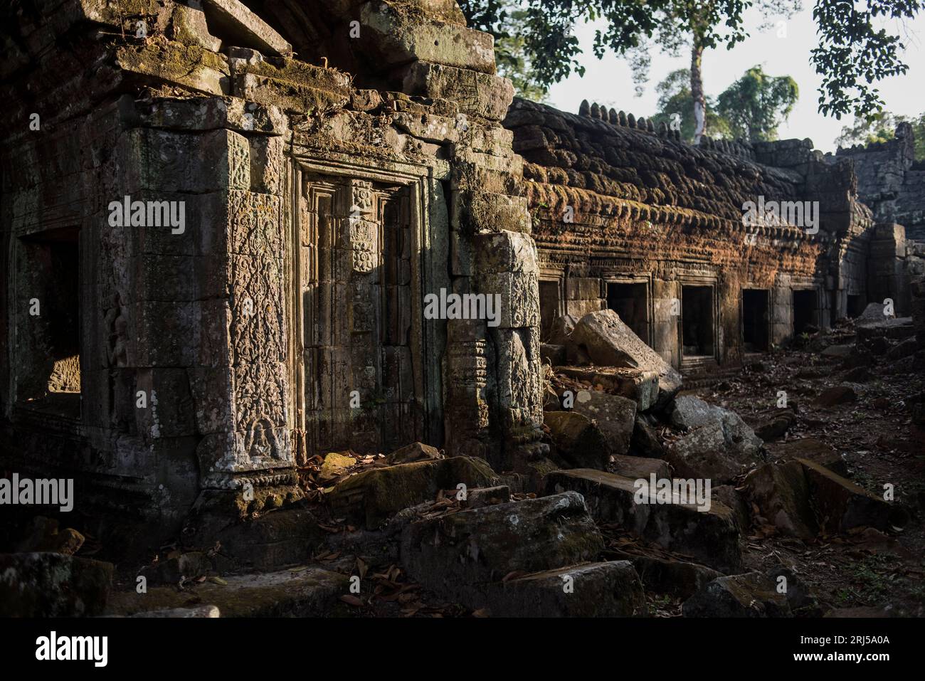
[[[585,563],[502,582],[488,610],[496,617],[638,617],[646,597],[632,563]]]

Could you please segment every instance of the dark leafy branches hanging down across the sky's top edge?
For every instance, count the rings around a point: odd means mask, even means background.
[[[757,6],[767,17],[787,15],[799,0],[518,0],[524,14],[524,50],[537,85],[548,87],[571,73],[584,74],[581,48],[572,29],[576,22],[605,19],[595,36],[594,52],[629,56],[645,74],[649,48],[680,53],[690,49],[691,95],[697,128],[706,125],[706,95],[701,60],[705,50],[733,47],[746,40],[746,9]],[[463,0],[462,10],[475,28],[495,32],[493,12],[503,0]],[[882,108],[878,80],[906,73],[900,55],[903,22],[914,19],[925,0],[815,0],[819,46],[812,63],[822,77],[819,110],[841,118],[854,111],[870,116]],[[892,22],[887,26],[888,22]],[[496,33],[496,36],[498,33]],[[644,78],[644,76],[643,76]]]

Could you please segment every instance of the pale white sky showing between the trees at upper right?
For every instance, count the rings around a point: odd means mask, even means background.
[[[809,51],[818,44],[816,26],[812,18],[812,0],[804,0],[804,9],[786,21],[786,37],[777,35],[776,27],[758,32],[761,17],[758,10],[746,13],[746,26],[751,37],[733,50],[721,47],[710,50],[703,58],[704,89],[710,96],[722,93],[734,80],[742,77],[746,69],[761,65],[772,76],[789,75],[796,80],[800,98],[790,118],[778,129],[779,138],[811,139],[817,149],[834,151],[835,138],[842,127],[853,122],[850,114],[841,120],[823,117],[817,111],[820,77],[809,64]],[[598,59],[591,51],[594,31],[602,23],[586,23],[576,28],[584,54],[579,57],[586,67],[585,77],[572,75],[553,85],[549,90],[549,104],[576,113],[583,99],[623,109],[636,117],[648,117],[657,112],[658,96],[655,86],[677,68],[690,67],[690,54],[673,58],[653,48],[649,80],[642,97],[635,96],[628,61],[609,53]],[[894,29],[895,31],[895,29]],[[897,115],[918,116],[925,111],[925,13],[901,30],[906,43],[902,53],[909,69],[905,76],[881,80],[880,90],[886,110]]]

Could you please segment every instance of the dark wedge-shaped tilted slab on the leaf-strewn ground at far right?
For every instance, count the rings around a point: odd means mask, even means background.
[[[880,497],[820,464],[806,459],[797,461],[806,471],[822,531],[835,534],[864,526],[884,530],[891,521],[900,526],[904,524],[898,517],[901,514]]]

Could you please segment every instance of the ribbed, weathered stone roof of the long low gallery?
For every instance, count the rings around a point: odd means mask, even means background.
[[[574,115],[517,98],[504,120],[514,133],[514,151],[526,161],[524,179],[534,180],[527,192],[545,194],[541,203],[558,196],[598,215],[630,205],[653,221],[719,226],[741,225],[743,204],[759,196],[766,202],[806,198],[800,173],[752,160],[748,146],[719,141],[694,146],[632,114],[611,110],[605,119],[597,105],[583,105],[582,111],[585,115]],[[549,196],[549,186],[561,190]]]

